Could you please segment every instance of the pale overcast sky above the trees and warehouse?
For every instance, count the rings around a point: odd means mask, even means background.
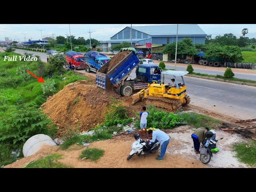
[[[145,25],[159,25],[159,24],[133,24],[133,26],[145,26]],[[206,34],[212,34],[212,37],[216,35],[223,35],[225,33],[232,33],[237,37],[241,36],[243,28],[248,28],[249,32],[246,35],[249,38],[256,38],[256,24],[198,24]],[[89,30],[91,38],[97,40],[109,40],[111,36],[125,28],[130,24],[70,24],[71,35],[76,38],[82,36],[85,39],[89,38]],[[4,40],[4,37],[8,37],[12,40],[24,41],[24,34],[26,34],[26,40],[32,38],[32,40],[41,39],[40,31],[36,29],[45,29],[42,31],[42,36],[54,37],[56,36],[69,36],[68,24],[0,24],[0,40]]]

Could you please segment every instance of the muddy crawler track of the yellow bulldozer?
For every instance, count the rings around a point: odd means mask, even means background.
[[[180,100],[168,99],[162,97],[147,96],[142,98],[146,100],[146,104],[153,104],[156,107],[164,108],[170,112],[176,112],[178,109],[182,108]]]

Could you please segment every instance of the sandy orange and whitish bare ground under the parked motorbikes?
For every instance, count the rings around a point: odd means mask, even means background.
[[[78,157],[86,147],[74,144],[67,150],[60,150],[58,146],[45,146],[33,156],[22,158],[13,164],[5,166],[5,168],[22,168],[30,162],[50,153],[63,154],[60,162],[70,165],[74,168],[247,168],[245,164],[239,162],[232,151],[232,144],[236,142],[247,141],[242,136],[216,130],[217,139],[224,139],[217,142],[219,152],[213,154],[209,164],[204,165],[200,162],[200,154],[194,153],[193,141],[191,134],[192,128],[189,126],[180,126],[173,130],[166,130],[170,136],[170,144],[166,150],[166,155],[163,161],[155,160],[156,155],[147,154],[146,156],[134,156],[129,161],[126,160],[131,151],[131,144],[134,142],[132,134],[121,134],[113,139],[98,141],[91,143],[89,148],[100,148],[105,150],[97,162],[89,160],[80,160]]]

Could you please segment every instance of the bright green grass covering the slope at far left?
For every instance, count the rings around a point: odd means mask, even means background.
[[[31,77],[30,79],[26,80],[24,77],[22,77],[22,74],[18,70],[19,66],[24,65],[27,66],[32,73],[39,76],[38,61],[4,61],[4,56],[12,57],[14,55],[21,56],[21,54],[14,52],[0,53],[0,138],[2,139],[8,138],[8,136],[3,135],[2,133],[10,130],[8,126],[4,126],[4,120],[10,118],[14,114],[17,114],[20,108],[26,106],[32,106],[32,108],[35,110],[38,109],[44,102],[46,102],[47,98],[47,96],[45,96],[42,92],[42,84],[38,83],[36,78]],[[66,77],[66,79],[62,80],[64,77]],[[45,81],[49,80],[48,77],[43,78]],[[78,80],[87,80],[87,77],[74,72],[65,72],[63,76],[59,76],[58,73],[54,73],[52,79],[56,82],[56,92],[58,92],[62,90],[65,85]],[[26,124],[26,122],[20,122],[20,124],[21,123]],[[38,121],[38,123],[40,124],[40,121]],[[10,131],[10,134],[15,134],[15,132],[12,132],[14,130]],[[20,131],[20,133],[21,132],[22,131]],[[39,133],[40,132],[38,131],[33,132],[33,134]],[[26,134],[25,131],[24,134]],[[16,148],[22,149],[22,146],[23,142],[21,141],[15,145],[12,141],[0,141],[0,164],[6,165],[16,161],[16,157],[10,156],[11,151],[14,151]],[[23,154],[21,152],[18,159],[22,157]]]

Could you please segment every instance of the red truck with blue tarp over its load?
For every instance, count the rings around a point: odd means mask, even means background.
[[[84,61],[84,55],[75,52],[75,51],[68,51],[65,53],[67,64],[73,64],[76,69],[85,69],[85,61]]]

